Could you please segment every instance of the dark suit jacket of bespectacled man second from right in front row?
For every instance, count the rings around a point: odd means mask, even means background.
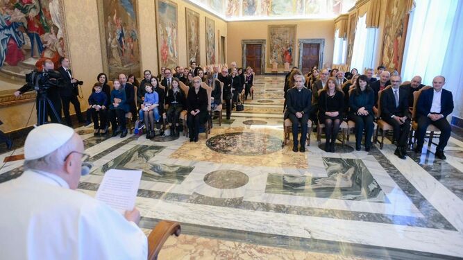
[[[408,116],[410,118],[410,110],[408,110],[408,92],[405,89],[398,89],[398,107],[396,107],[396,98],[392,87],[385,90],[381,94],[381,117]]]

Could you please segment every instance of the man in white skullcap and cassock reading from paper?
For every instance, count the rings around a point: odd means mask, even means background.
[[[2,259],[146,259],[136,208],[123,216],[76,191],[88,156],[72,128],[33,129],[24,157],[24,173],[0,184]]]

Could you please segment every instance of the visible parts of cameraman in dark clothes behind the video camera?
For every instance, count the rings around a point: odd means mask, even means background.
[[[54,69],[55,65],[51,60],[45,60],[44,64],[42,64],[42,71],[43,72],[52,72]],[[38,72],[38,71],[36,71]],[[20,89],[18,89],[15,92],[15,96],[21,96],[21,94],[34,90],[34,85],[33,83],[28,83],[24,86],[22,86]],[[39,116],[39,98],[40,98],[40,92],[37,92],[37,99],[35,101],[35,109],[37,110],[37,120],[40,118]],[[49,89],[47,89],[47,97],[51,101],[51,104],[56,110],[56,113],[58,114],[59,118],[56,118],[55,114],[53,114],[51,107],[49,103],[47,103],[47,114],[45,114],[45,121],[47,121],[48,116],[50,116],[51,122],[52,123],[60,123],[61,119],[61,100],[60,100],[60,94],[58,92],[58,87],[55,85],[51,85]],[[40,123],[40,122],[39,122]]]

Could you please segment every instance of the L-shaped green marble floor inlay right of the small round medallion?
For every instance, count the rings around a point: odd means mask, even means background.
[[[360,159],[323,157],[328,177],[269,173],[266,193],[341,200],[387,202],[384,192]]]

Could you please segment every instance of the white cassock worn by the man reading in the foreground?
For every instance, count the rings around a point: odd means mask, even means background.
[[[1,259],[146,259],[142,230],[57,175],[25,171],[0,184]]]

